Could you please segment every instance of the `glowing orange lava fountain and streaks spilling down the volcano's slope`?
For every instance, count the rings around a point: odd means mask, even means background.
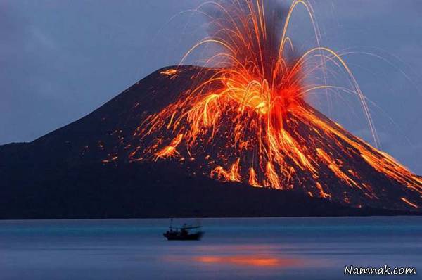
[[[267,2],[265,2],[267,4]],[[218,15],[203,6],[217,8]],[[196,162],[203,174],[224,182],[245,182],[273,189],[300,189],[309,196],[329,198],[359,207],[382,199],[383,186],[371,184],[371,174],[404,186],[397,192],[402,208],[420,208],[421,177],[309,106],[305,98],[317,90],[340,89],[355,94],[377,137],[366,99],[352,72],[335,51],[320,45],[312,6],[293,1],[285,15],[264,6],[262,0],[207,2],[198,8],[210,18],[212,36],[192,47],[219,50],[205,59],[195,87],[179,93],[177,101],[148,115],[134,132],[139,140],[129,154],[133,161],[178,160]],[[288,37],[292,13],[307,11],[316,47],[298,55]],[[283,17],[283,25],[277,22]],[[350,88],[309,84],[306,77],[324,76],[327,63],[347,74]],[[207,70],[212,69],[212,70]],[[183,70],[161,72],[177,79]],[[341,182],[342,188],[337,188]],[[360,193],[355,198],[351,193]],[[370,203],[369,203],[370,204]]]

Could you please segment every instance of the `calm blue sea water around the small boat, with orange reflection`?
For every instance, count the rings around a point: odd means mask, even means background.
[[[168,219],[0,221],[0,279],[374,279],[344,267],[385,264],[418,271],[390,279],[422,276],[422,217],[201,222],[202,241],[166,241]]]

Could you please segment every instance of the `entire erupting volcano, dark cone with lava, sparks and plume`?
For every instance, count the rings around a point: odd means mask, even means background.
[[[305,51],[289,33],[302,11],[315,38]],[[422,177],[310,100],[356,98],[378,146],[366,97],[341,53],[321,46],[307,1],[284,12],[208,1],[195,13],[210,36],[179,65],[0,146],[0,219],[420,215]],[[186,65],[198,53],[201,66]]]

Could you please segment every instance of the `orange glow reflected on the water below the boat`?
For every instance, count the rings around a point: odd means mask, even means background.
[[[194,257],[197,262],[215,263],[215,264],[233,264],[255,267],[290,267],[299,265],[299,260],[282,259],[276,257],[264,257],[255,255],[232,255],[232,256],[212,256],[204,255]]]

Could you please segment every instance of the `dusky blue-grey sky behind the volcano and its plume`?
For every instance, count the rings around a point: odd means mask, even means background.
[[[203,18],[188,11],[202,2],[0,0],[0,144],[33,141],[179,63],[205,36]],[[422,1],[310,3],[321,45],[347,53],[370,100],[380,148],[422,174]],[[305,11],[299,8],[292,22],[293,42],[309,49],[314,38]],[[373,144],[350,96],[312,102]]]

